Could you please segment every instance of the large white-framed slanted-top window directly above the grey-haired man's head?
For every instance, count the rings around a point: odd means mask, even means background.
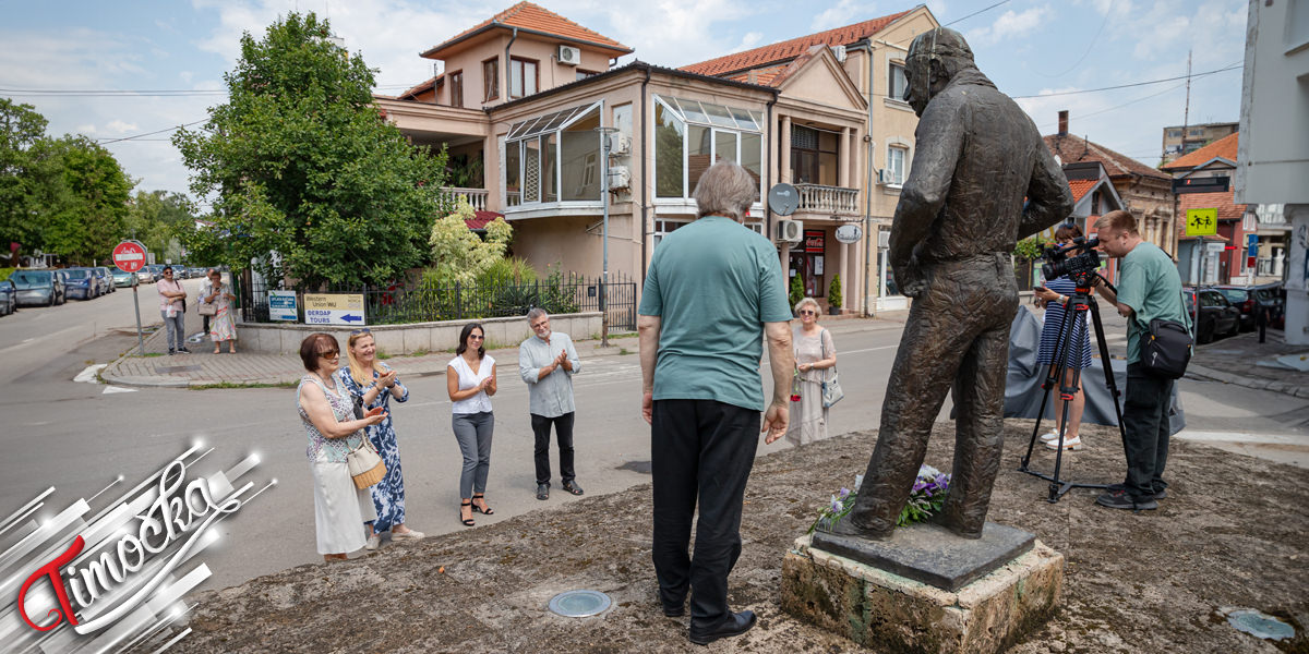
[[[740,164],[762,183],[762,132],[761,111],[654,95],[654,196],[690,198],[719,161]]]

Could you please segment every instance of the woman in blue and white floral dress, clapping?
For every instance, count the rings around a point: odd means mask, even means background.
[[[350,332],[346,358],[350,368],[336,373],[346,390],[360,399],[365,411],[380,407],[386,413],[386,420],[368,428],[368,438],[386,463],[386,476],[372,487],[377,521],[368,523],[368,543],[364,547],[377,549],[384,531],[390,531],[393,540],[423,538],[421,531],[404,525],[404,477],[401,473],[401,449],[390,417],[391,399],[408,402],[408,388],[395,378],[394,369],[377,360],[377,344],[373,343],[372,330],[367,327]]]

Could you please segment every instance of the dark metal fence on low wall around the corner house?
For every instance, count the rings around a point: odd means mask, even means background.
[[[254,323],[274,322],[268,318],[268,290],[296,290],[298,318],[304,320],[304,289],[258,283],[241,284],[243,319]],[[491,283],[454,284],[452,286],[330,286],[308,293],[342,293],[364,296],[368,324],[407,324],[436,320],[473,320],[526,315],[533,307],[551,314],[600,311],[601,294],[609,314],[609,332],[636,331],[636,283],[622,275],[600,277],[565,275],[530,283],[497,280]]]

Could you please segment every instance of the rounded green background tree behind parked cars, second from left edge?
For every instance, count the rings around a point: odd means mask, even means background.
[[[34,146],[59,162],[43,186],[42,247],[73,264],[107,260],[122,239],[132,181],[109,150],[65,135]]]

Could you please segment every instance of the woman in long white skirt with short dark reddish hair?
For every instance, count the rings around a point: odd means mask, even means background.
[[[368,493],[355,488],[346,455],[363,445],[364,429],[386,420],[377,411],[355,419],[355,400],[336,377],[340,345],[330,334],[310,334],[300,343],[309,371],[296,388],[300,422],[309,437],[309,470],[314,476],[314,525],[325,561],[344,560],[367,543],[360,523],[376,518]]]

